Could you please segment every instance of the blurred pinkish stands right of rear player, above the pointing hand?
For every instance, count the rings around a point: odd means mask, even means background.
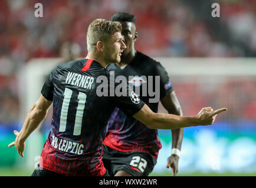
[[[170,76],[184,115],[196,115],[203,106],[211,106],[214,110],[227,107],[227,113],[219,115],[216,122],[238,127],[256,125],[256,78],[245,76],[240,80],[229,76],[212,81],[214,78],[190,76],[185,82],[178,81],[180,76],[172,78]]]

